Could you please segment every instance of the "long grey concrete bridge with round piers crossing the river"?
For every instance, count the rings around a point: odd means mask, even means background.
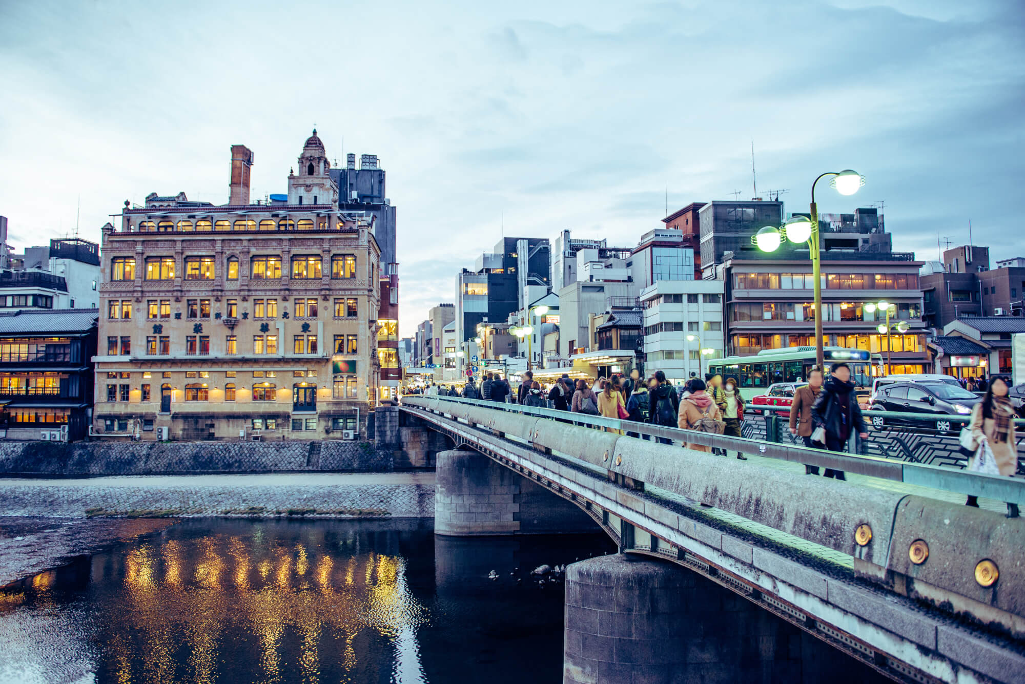
[[[597,524],[618,545],[567,568],[565,682],[676,681],[688,570],[896,681],[1025,681],[1021,479],[456,397],[400,418],[438,450],[437,535]]]

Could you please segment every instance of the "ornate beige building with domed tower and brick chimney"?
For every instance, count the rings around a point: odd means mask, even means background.
[[[317,131],[288,199],[153,194],[102,236],[93,426],[142,439],[359,438],[377,401],[380,250],[338,209]],[[350,434],[353,431],[354,434]]]

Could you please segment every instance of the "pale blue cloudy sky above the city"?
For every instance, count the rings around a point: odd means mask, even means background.
[[[501,4],[502,6],[498,6]],[[0,215],[16,248],[99,240],[151,191],[283,193],[314,126],[377,155],[400,334],[505,236],[633,245],[691,202],[855,169],[894,249],[1025,256],[1025,5],[894,2],[0,1]],[[734,194],[739,191],[739,196]]]

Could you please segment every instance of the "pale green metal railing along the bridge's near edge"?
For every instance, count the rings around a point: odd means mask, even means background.
[[[1014,504],[1015,507],[1025,504],[1025,479],[1022,478],[1012,478],[1000,475],[985,475],[949,466],[936,466],[926,463],[907,462],[897,460],[895,458],[808,448],[804,445],[797,445],[795,443],[785,443],[766,439],[764,433],[763,435],[751,434],[750,437],[733,437],[696,432],[694,430],[683,430],[675,427],[652,425],[651,423],[638,423],[629,420],[605,418],[603,416],[589,416],[586,414],[558,411],[555,409],[525,407],[517,403],[499,403],[497,401],[464,399],[452,396],[432,396],[423,398],[438,400],[440,402],[440,407],[444,405],[446,402],[482,407],[510,414],[523,414],[539,418],[548,418],[563,423],[572,423],[574,425],[604,428],[607,430],[619,430],[627,435],[640,436],[644,439],[660,440],[663,442],[689,442],[722,448],[725,451],[756,454],[757,456],[770,459],[803,463],[811,466],[819,466],[820,468],[843,470],[849,473],[878,477],[896,482],[906,482],[908,484],[953,491],[966,496],[994,499],[1008,504]],[[866,413],[872,414],[877,412]],[[889,413],[886,415],[890,417],[905,416],[905,414]],[[906,414],[906,416],[914,417],[915,415]],[[744,421],[744,423],[747,422],[749,421]],[[779,428],[777,428],[777,431],[778,429]],[[789,436],[788,431],[787,435]],[[956,439],[956,437],[954,437],[954,439]],[[1017,515],[1017,511],[1014,508],[1011,508],[1010,514]]]

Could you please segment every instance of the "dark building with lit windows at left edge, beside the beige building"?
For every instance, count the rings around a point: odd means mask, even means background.
[[[97,316],[97,309],[86,308],[0,312],[4,438],[81,439],[87,434]],[[121,391],[128,380],[109,382]]]

